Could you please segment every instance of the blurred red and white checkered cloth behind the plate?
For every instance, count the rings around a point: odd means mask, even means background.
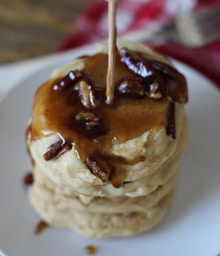
[[[118,0],[118,36],[143,29],[160,29],[180,12],[205,8],[217,2],[219,0]],[[93,0],[74,23],[58,51],[100,41],[107,37],[108,3],[106,0]],[[196,49],[185,48],[173,42],[151,46],[163,54],[194,67],[220,87],[220,40]]]

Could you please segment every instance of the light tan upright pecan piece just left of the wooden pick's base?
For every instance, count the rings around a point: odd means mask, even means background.
[[[79,83],[79,96],[86,108],[97,107],[98,100],[96,99],[95,89],[84,80]]]

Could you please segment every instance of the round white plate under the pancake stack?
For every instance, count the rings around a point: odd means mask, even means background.
[[[76,57],[54,59],[27,77],[0,103],[0,250],[7,256],[217,256],[220,253],[220,93],[203,76],[176,63],[189,82],[190,141],[176,196],[164,221],[136,237],[96,240],[48,228],[34,235],[39,217],[22,181],[29,171],[24,133],[36,88],[57,66]],[[2,81],[1,81],[2,82]]]

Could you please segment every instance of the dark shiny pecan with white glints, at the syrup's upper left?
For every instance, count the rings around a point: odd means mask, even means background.
[[[80,71],[70,71],[64,78],[58,83],[53,85],[54,91],[64,90],[75,85],[82,78]]]

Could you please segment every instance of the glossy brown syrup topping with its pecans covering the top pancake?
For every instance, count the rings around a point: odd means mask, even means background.
[[[114,103],[107,105],[108,55],[98,53],[82,61],[83,70],[50,79],[36,92],[31,139],[59,134],[61,143],[58,143],[58,151],[66,141],[71,142],[92,172],[93,156],[122,161],[115,156],[106,156],[106,149],[113,143],[123,143],[146,131],[155,133],[165,128],[169,102],[187,101],[185,79],[178,71],[123,48],[116,55]],[[105,163],[99,165],[105,171],[96,173],[96,176],[108,181],[111,171],[103,167]]]

